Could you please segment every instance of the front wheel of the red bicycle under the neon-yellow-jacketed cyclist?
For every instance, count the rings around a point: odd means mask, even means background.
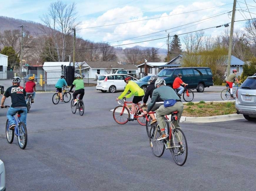
[[[130,118],[130,112],[123,105],[118,105],[113,110],[113,118],[118,124],[126,124],[128,122],[128,118]]]

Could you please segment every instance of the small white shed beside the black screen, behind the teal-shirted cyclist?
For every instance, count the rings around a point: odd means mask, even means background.
[[[45,74],[45,83],[47,85],[56,84],[60,75],[62,75],[61,65],[69,66],[69,62],[45,62],[43,69],[46,72]]]

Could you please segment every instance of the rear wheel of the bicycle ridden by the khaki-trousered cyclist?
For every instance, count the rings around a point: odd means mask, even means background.
[[[171,148],[173,159],[177,165],[184,165],[188,157],[188,143],[180,128],[172,129]]]

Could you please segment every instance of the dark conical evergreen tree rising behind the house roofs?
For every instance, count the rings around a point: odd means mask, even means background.
[[[166,56],[165,61],[169,62],[170,60],[181,54],[181,52],[181,41],[178,35],[175,34],[173,36],[173,40],[169,44],[169,56]]]

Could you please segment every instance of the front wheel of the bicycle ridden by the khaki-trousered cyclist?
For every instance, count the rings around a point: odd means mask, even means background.
[[[161,157],[165,151],[165,144],[164,144],[165,140],[157,141],[158,137],[160,137],[161,135],[161,131],[159,129],[158,124],[153,124],[151,126],[150,135],[151,136],[149,138],[149,143],[150,143],[151,150],[153,151],[156,157]]]

